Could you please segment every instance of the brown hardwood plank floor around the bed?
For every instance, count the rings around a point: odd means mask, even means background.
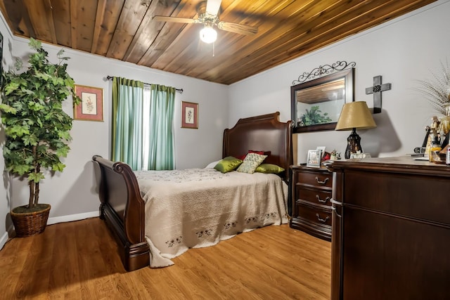
[[[0,251],[0,299],[330,299],[330,242],[288,225],[126,273],[98,218],[47,226]]]

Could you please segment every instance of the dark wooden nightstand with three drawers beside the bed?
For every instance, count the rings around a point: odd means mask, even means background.
[[[326,168],[291,166],[293,217],[290,227],[331,240],[333,176]]]

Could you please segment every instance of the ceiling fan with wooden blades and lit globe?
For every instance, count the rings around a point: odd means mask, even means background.
[[[204,27],[200,30],[200,39],[207,44],[214,42],[217,39],[217,32],[214,26],[219,30],[227,32],[234,32],[238,34],[253,35],[258,32],[258,27],[238,24],[233,22],[224,22],[219,20],[221,0],[207,0],[200,2],[198,6],[198,18],[178,18],[165,17],[162,15],[155,15],[153,20],[161,22],[179,22],[179,23],[197,23],[203,24]]]

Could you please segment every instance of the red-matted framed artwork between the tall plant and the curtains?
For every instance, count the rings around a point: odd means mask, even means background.
[[[103,89],[75,84],[75,93],[82,100],[73,108],[73,119],[103,122]]]

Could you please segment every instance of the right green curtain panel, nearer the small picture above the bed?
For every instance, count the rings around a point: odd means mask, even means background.
[[[175,88],[150,86],[149,170],[174,169]]]

